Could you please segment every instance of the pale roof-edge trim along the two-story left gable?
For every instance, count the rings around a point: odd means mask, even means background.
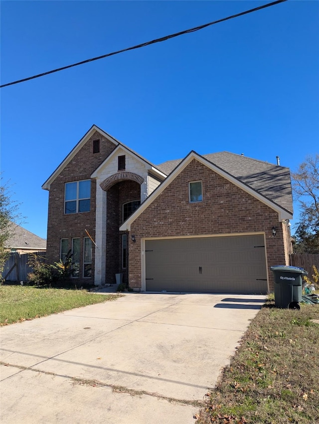
[[[79,152],[79,150],[84,146],[84,144],[89,140],[89,138],[95,133],[95,131],[97,131],[103,137],[105,137],[106,139],[108,139],[112,143],[114,143],[114,145],[116,147],[122,146],[123,148],[125,148],[128,151],[130,151],[131,153],[133,153],[135,156],[137,156],[140,159],[142,159],[144,162],[147,162],[151,166],[151,168],[153,168],[153,172],[156,172],[157,174],[161,175],[162,177],[166,177],[167,174],[162,175],[162,172],[160,171],[160,169],[156,165],[154,165],[151,162],[147,161],[141,155],[139,155],[138,153],[134,152],[132,149],[130,149],[129,147],[127,147],[125,144],[121,143],[120,141],[118,141],[117,139],[115,139],[114,137],[112,137],[110,134],[106,133],[105,131],[103,131],[101,128],[99,128],[97,125],[94,124],[89,129],[89,131],[81,138],[81,140],[77,143],[77,145],[71,150],[71,152],[67,155],[67,157],[60,163],[60,165],[56,168],[56,170],[50,175],[50,177],[45,181],[45,183],[42,185],[42,189],[43,190],[50,190],[51,183],[60,174],[60,172],[67,166],[67,164],[74,158],[74,156]],[[111,155],[112,155],[112,153],[111,153]],[[106,160],[108,160],[108,158],[106,158]],[[150,171],[152,171],[151,168],[150,168]]]

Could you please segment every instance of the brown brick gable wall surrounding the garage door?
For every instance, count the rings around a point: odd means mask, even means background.
[[[188,182],[202,181],[203,201],[188,202]],[[276,237],[271,228],[277,227]],[[270,290],[274,264],[289,264],[278,213],[193,160],[131,225],[129,283],[141,289],[141,238],[265,231]]]

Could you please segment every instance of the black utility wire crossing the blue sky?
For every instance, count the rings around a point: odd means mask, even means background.
[[[186,29],[186,30],[180,31],[180,32],[175,32],[174,34],[170,34],[170,35],[165,35],[164,37],[156,38],[155,40],[147,41],[146,43],[137,44],[135,46],[127,47],[127,48],[124,48],[122,50],[113,51],[112,53],[103,54],[102,56],[93,57],[92,59],[82,60],[82,62],[73,63],[72,65],[63,66],[62,68],[53,69],[52,71],[47,71],[47,72],[43,72],[41,74],[33,75],[33,76],[30,76],[30,77],[27,77],[27,78],[19,79],[17,81],[8,82],[7,84],[0,85],[0,88],[7,87],[8,85],[19,84],[20,82],[29,81],[30,79],[39,78],[40,76],[53,74],[54,72],[63,71],[64,69],[73,68],[74,66],[83,65],[83,63],[88,63],[88,62],[93,62],[94,60],[103,59],[104,57],[114,56],[115,54],[123,53],[124,51],[135,50],[137,48],[145,47],[145,46],[150,45],[150,44],[159,43],[161,41],[165,41],[165,40],[168,40],[170,38],[178,37],[179,35],[199,31],[200,29],[206,28],[207,26],[210,26],[210,25],[214,25],[215,23],[224,22],[225,20],[233,19],[234,17],[238,17],[238,16],[242,16],[242,15],[245,15],[245,14],[248,14],[248,13],[251,13],[251,12],[255,12],[256,10],[265,9],[266,7],[274,6],[275,4],[283,3],[284,1],[287,1],[287,0],[273,1],[272,3],[267,3],[267,4],[264,4],[264,5],[259,6],[259,7],[254,7],[253,9],[245,10],[244,12],[236,13],[235,15],[232,15],[232,16],[227,16],[227,17],[224,17],[222,19],[214,20],[213,22],[205,23],[204,25],[195,26],[194,28]]]

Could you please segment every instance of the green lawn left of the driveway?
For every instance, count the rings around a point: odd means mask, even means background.
[[[0,286],[0,325],[39,318],[80,306],[114,300],[119,295],[89,294],[36,286]]]

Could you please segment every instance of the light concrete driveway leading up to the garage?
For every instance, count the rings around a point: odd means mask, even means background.
[[[130,293],[2,327],[0,422],[194,423],[264,300]]]

